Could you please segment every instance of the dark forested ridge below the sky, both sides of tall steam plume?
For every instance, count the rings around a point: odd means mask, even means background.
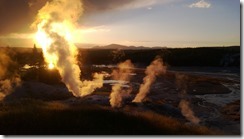
[[[117,46],[117,45],[115,45]],[[122,46],[120,46],[122,47]],[[96,47],[95,47],[96,48]],[[131,59],[139,66],[145,66],[160,56],[168,66],[200,66],[200,67],[240,67],[240,46],[202,47],[202,48],[148,48],[146,49],[80,49],[78,59],[83,65],[117,64]],[[106,47],[105,47],[106,48]],[[113,49],[111,49],[113,48]],[[134,47],[133,47],[134,48]],[[44,61],[41,49],[5,48],[9,49],[12,59],[20,66],[25,64],[42,64]]]

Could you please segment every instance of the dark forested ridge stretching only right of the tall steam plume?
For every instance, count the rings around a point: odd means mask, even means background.
[[[144,66],[150,64],[156,56],[160,56],[165,64],[176,67],[240,67],[240,48],[240,46],[230,46],[150,49],[113,44],[93,49],[80,49],[79,60],[84,65],[109,65],[130,59],[133,63]]]

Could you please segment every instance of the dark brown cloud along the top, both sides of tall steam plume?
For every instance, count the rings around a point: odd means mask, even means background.
[[[29,32],[38,10],[47,1],[51,0],[0,0],[0,35]],[[83,0],[84,14],[118,9],[134,1],[136,0]]]

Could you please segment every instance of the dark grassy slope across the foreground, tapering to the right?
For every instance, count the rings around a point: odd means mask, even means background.
[[[3,135],[200,135],[206,128],[190,128],[175,119],[142,112],[126,114],[92,104],[25,100],[1,103]]]

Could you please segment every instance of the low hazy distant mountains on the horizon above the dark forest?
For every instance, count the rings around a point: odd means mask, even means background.
[[[92,49],[123,49],[123,50],[134,50],[134,49],[162,49],[163,47],[144,47],[144,46],[125,46],[120,44],[110,44],[106,46],[95,46]]]

